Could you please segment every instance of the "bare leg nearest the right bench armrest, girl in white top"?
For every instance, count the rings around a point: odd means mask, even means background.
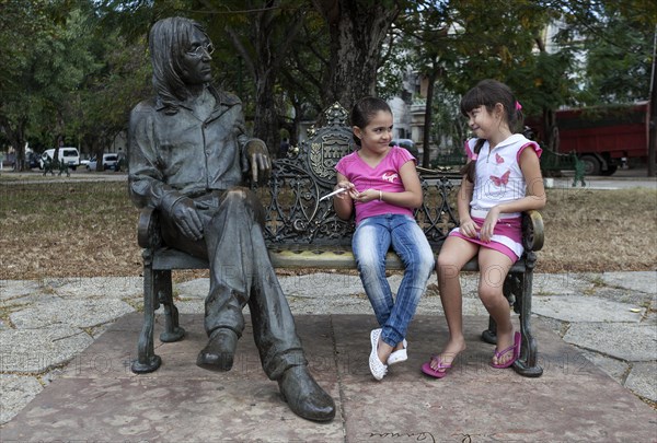
[[[514,325],[511,323],[509,302],[504,296],[503,287],[509,269],[514,265],[506,255],[486,247],[480,248],[480,282],[479,295],[482,303],[497,324],[497,350],[502,351],[514,346]],[[514,358],[512,352],[493,355],[494,364],[504,364]]]

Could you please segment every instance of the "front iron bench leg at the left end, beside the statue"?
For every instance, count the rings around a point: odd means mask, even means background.
[[[159,301],[155,298],[155,284],[150,256],[143,254],[143,325],[139,335],[137,345],[137,360],[132,360],[130,369],[136,374],[153,372],[162,359],[155,354],[153,346],[153,328],[155,323],[155,310],[159,307]]]

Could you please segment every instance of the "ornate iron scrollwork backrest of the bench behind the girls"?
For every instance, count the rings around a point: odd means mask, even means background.
[[[308,139],[276,160],[268,187],[258,188],[266,210],[265,240],[269,245],[350,245],[354,221],[337,218],[332,199],[320,198],[335,186],[335,165],[356,149],[347,112],[335,103],[324,126],[311,127]],[[434,246],[458,224],[453,173],[419,171],[424,205],[415,218]]]

